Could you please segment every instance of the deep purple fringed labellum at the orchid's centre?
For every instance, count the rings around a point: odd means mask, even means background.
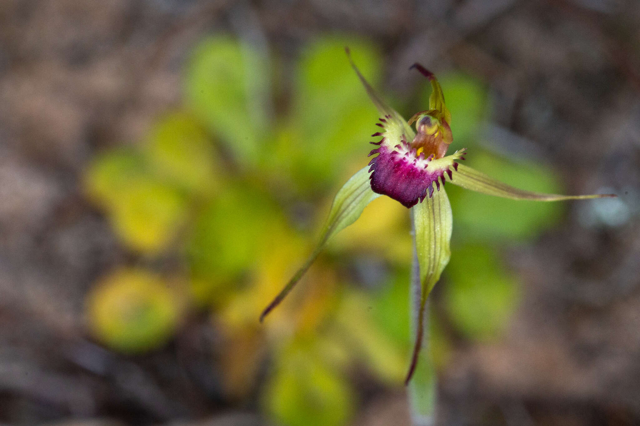
[[[388,195],[406,208],[433,194],[433,183],[440,190],[438,179],[444,179],[446,168],[429,168],[429,159],[415,155],[415,149],[396,145],[396,149],[381,146],[371,151],[380,153],[371,162],[371,189],[377,194]]]

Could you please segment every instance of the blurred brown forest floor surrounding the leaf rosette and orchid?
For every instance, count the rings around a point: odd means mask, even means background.
[[[571,204],[552,232],[506,250],[524,282],[520,307],[499,343],[454,335],[438,422],[640,424],[640,3],[631,0],[4,0],[0,422],[268,422],[260,381],[240,400],[220,392],[225,348],[207,312],[140,356],[100,346],[86,328],[95,281],[138,259],[86,200],[81,176],[97,152],[134,144],[179,105],[186,54],[212,32],[262,40],[285,59],[317,34],[357,34],[382,49],[383,87],[398,98],[419,82],[407,64],[460,68],[490,87],[493,148],[534,152],[572,193],[620,194],[622,211]],[[402,388],[357,376],[369,390],[354,424],[408,424]]]

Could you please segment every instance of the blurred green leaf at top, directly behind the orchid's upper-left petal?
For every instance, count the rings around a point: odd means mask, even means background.
[[[347,45],[362,72],[377,82],[378,52],[353,38],[321,38],[307,47],[298,65],[287,137],[291,145],[278,163],[306,188],[337,178],[356,153],[367,153],[369,135],[376,131],[378,112],[349,65]]]

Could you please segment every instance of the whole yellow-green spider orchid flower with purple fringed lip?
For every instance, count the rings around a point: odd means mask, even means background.
[[[420,303],[413,356],[405,381],[405,384],[408,384],[422,346],[426,300],[451,257],[449,243],[452,214],[451,204],[444,189],[445,182],[449,181],[454,185],[482,194],[514,200],[563,201],[616,195],[556,195],[529,192],[506,185],[483,172],[461,164],[465,159],[465,149],[460,149],[452,155],[445,155],[449,144],[453,141],[449,126],[451,112],[445,105],[442,87],[433,73],[417,63],[411,67],[416,68],[429,79],[432,92],[429,97],[429,109],[420,111],[409,121],[405,121],[374,91],[351,60],[348,49],[346,52],[351,66],[382,116],[376,123],[381,127],[381,131],[372,135],[381,139],[371,142],[378,148],[369,153],[369,156],[378,155],[369,165],[356,172],[335,195],[316,250],[264,309],[260,322],[292,290],[323,250],[327,241],[348,225],[353,224],[367,204],[380,195],[387,195],[411,211],[415,252],[419,264]],[[411,127],[412,123],[415,123],[415,132]]]

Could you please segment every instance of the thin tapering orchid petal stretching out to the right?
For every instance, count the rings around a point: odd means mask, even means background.
[[[483,172],[479,172],[463,164],[457,165],[457,171],[453,174],[451,183],[462,186],[468,190],[481,192],[482,194],[495,195],[496,197],[510,198],[513,200],[563,201],[617,197],[615,194],[557,195],[525,191],[502,183]]]

